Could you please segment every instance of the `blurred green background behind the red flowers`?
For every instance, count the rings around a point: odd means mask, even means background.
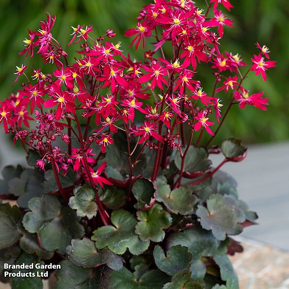
[[[231,0],[235,6],[230,13],[222,9],[235,21],[235,28],[225,28],[221,50],[240,53],[245,62],[250,64],[250,57],[258,53],[254,43],[267,45],[271,50],[271,59],[277,61],[277,68],[270,69],[267,82],[261,76],[253,76],[244,83],[250,93],[265,91],[270,99],[268,111],[255,107],[239,109],[234,107],[226,124],[220,130],[216,142],[224,137],[235,136],[245,143],[279,141],[289,137],[289,2],[288,0]],[[123,33],[135,27],[135,17],[141,6],[149,0],[0,0],[0,99],[19,89],[20,82],[12,89],[16,65],[27,64],[28,74],[32,68],[41,67],[40,56],[24,59],[18,55],[23,49],[22,40],[27,37],[27,28],[38,30],[39,21],[45,20],[45,12],[56,14],[53,36],[70,53],[73,47],[66,47],[72,32],[71,26],[93,24],[95,36],[104,34],[108,28],[118,33],[113,42],[122,41],[122,48],[133,57],[142,60],[141,49],[134,52],[127,49],[131,39]],[[205,8],[205,1],[196,4]],[[79,47],[79,46],[78,46]],[[77,48],[78,48],[77,47]],[[149,49],[148,46],[147,49]],[[166,49],[165,53],[169,55]],[[72,58],[74,54],[70,54]],[[47,67],[47,66],[46,66]],[[212,89],[212,71],[201,66],[198,79],[205,91]],[[17,86],[18,85],[18,86]],[[221,95],[220,95],[221,96]],[[224,105],[229,94],[223,95]]]

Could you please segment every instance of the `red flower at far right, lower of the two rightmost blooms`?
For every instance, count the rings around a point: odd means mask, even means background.
[[[259,109],[267,110],[265,105],[268,105],[268,98],[262,98],[264,92],[249,95],[248,91],[241,88],[241,92],[235,91],[234,97],[236,100],[240,101],[240,108],[244,108],[247,104],[256,106]]]

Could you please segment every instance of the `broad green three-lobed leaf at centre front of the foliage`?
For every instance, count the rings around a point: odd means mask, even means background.
[[[133,255],[141,254],[149,248],[150,242],[141,241],[134,234],[137,220],[125,210],[116,210],[111,214],[113,226],[103,226],[93,232],[92,240],[96,247],[108,249],[115,254],[124,254],[127,248]]]

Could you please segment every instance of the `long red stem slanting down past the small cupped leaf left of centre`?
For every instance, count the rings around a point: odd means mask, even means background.
[[[78,120],[78,117],[77,115],[75,114],[74,115],[75,117],[75,122],[76,122],[76,125],[77,125],[77,129],[78,129],[78,134],[79,134],[79,141],[80,141],[80,147],[81,147],[81,154],[82,154],[82,158],[83,158],[83,163],[84,163],[84,167],[85,167],[85,170],[86,170],[86,174],[88,175],[88,178],[89,178],[89,181],[90,181],[90,184],[94,187],[93,185],[93,179],[92,179],[92,176],[91,176],[91,172],[90,172],[90,169],[89,169],[89,163],[88,163],[88,160],[86,159],[86,153],[85,153],[85,148],[84,148],[84,141],[83,141],[83,137],[82,137],[82,132],[81,132],[81,127],[80,127],[80,123],[79,123],[79,120]],[[102,206],[102,203],[101,203],[101,200],[99,198],[99,195],[98,195],[98,192],[96,192],[96,201],[97,201],[97,205],[98,205],[98,212],[99,212],[99,215],[102,219],[102,222],[104,223],[104,225],[108,225],[108,219],[107,219],[107,213],[105,212],[103,206]]]

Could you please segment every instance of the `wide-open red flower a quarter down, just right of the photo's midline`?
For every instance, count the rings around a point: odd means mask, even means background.
[[[148,67],[146,65],[142,66],[146,71],[150,72],[148,74],[142,75],[139,77],[138,81],[140,83],[147,82],[151,79],[152,80],[152,90],[155,89],[156,85],[163,90],[162,83],[167,84],[166,79],[163,77],[163,75],[166,73],[166,69],[164,69],[162,66],[160,66],[158,63],[153,64],[152,67]]]

